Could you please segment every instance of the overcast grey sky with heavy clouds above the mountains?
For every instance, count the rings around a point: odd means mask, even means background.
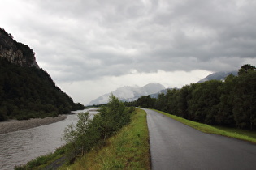
[[[256,0],[1,0],[0,27],[74,101],[256,65]]]

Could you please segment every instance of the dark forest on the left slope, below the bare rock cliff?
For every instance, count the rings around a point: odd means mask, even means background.
[[[46,71],[0,58],[0,121],[54,117],[83,108],[82,104],[74,104]]]

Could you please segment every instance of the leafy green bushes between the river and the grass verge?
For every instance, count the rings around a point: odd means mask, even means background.
[[[103,106],[97,115],[90,119],[89,113],[79,113],[76,125],[68,125],[64,132],[69,157],[84,155],[93,147],[98,147],[106,138],[130,122],[134,108],[126,108],[115,96]]]

